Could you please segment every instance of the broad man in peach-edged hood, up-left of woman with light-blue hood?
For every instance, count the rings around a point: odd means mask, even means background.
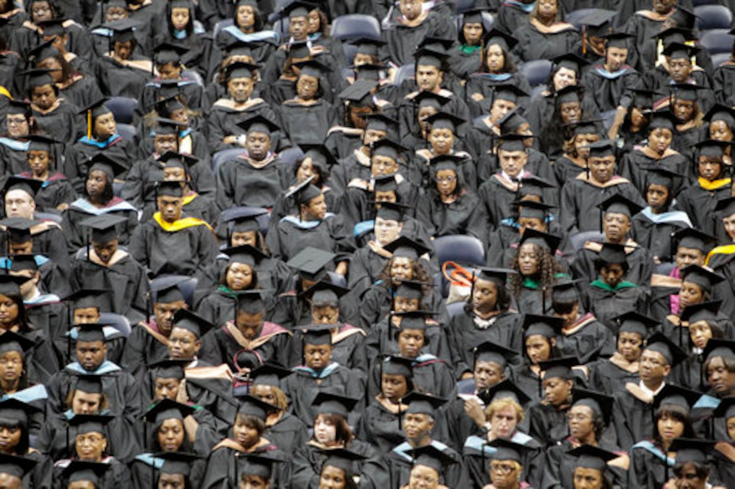
[[[612,195],[644,204],[636,187],[626,178],[614,175],[614,142],[603,140],[589,145],[588,171],[580,173],[562,189],[560,224],[563,233],[600,231],[602,214],[598,206]]]

